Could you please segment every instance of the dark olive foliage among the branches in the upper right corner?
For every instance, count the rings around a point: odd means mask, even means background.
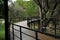
[[[40,6],[40,8],[44,8],[44,13],[47,17],[51,17],[52,16],[56,16],[57,14],[59,14],[59,8],[60,8],[60,0],[34,0],[36,2],[36,4],[38,4]],[[44,5],[42,5],[41,3],[44,1]],[[48,13],[49,12],[49,13]],[[48,15],[49,16],[48,16]],[[51,14],[51,15],[50,15]]]

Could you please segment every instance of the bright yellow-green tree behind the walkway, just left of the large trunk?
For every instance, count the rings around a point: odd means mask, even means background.
[[[24,8],[26,17],[38,16],[38,6],[34,1],[17,0],[17,3]]]

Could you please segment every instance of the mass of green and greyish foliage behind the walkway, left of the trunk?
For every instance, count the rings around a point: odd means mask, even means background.
[[[9,17],[26,19],[27,17],[38,16],[38,9],[34,1],[17,0],[13,5],[9,6]]]

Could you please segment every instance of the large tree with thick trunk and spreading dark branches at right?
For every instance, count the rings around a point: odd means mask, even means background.
[[[60,10],[59,9],[60,0],[34,0],[34,1],[40,7],[40,12],[42,15],[41,20],[43,20],[41,21],[41,25],[45,24],[44,27],[46,27],[49,24],[51,17],[58,16]]]

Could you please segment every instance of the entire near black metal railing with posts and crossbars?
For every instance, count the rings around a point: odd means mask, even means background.
[[[14,26],[19,27],[20,30],[15,29]],[[34,31],[35,32],[35,37],[32,36],[32,35],[29,35],[29,34],[26,34],[26,33],[22,32],[22,28],[27,29],[27,30]],[[20,37],[14,34],[14,30],[20,32]],[[33,29],[26,28],[26,27],[23,27],[23,26],[20,26],[20,25],[12,24],[12,35],[13,35],[12,39],[13,40],[15,40],[15,37],[17,37],[20,40],[23,40],[22,34],[27,35],[27,36],[29,36],[31,38],[34,38],[35,40],[41,40],[41,39],[38,38],[38,33],[42,33],[42,34],[45,34],[45,35],[49,35],[49,36],[53,36],[53,37],[56,37],[56,38],[60,38],[60,36],[56,36],[56,35],[44,33],[44,32],[37,31],[37,30],[33,30]]]

